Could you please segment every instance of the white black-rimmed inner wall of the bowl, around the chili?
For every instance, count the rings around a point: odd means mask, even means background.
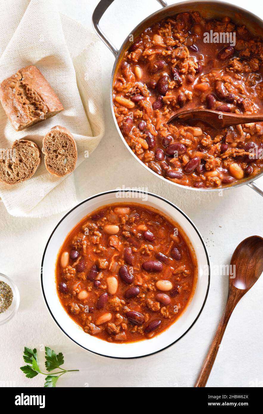
[[[129,202],[145,205],[147,208],[157,209],[168,219],[179,225],[179,228],[185,233],[186,239],[188,239],[188,245],[190,244],[192,246],[195,254],[197,260],[197,275],[195,291],[191,300],[181,316],[172,325],[151,339],[119,344],[106,342],[96,336],[85,333],[70,318],[58,298],[55,283],[55,264],[58,252],[66,236],[87,214],[92,213],[104,205],[114,203],[129,204]],[[43,253],[41,286],[46,305],[53,319],[65,335],[76,344],[101,356],[123,359],[142,358],[156,354],[175,344],[193,327],[205,306],[205,301],[208,296],[210,283],[209,268],[208,253],[203,238],[191,219],[181,209],[159,195],[152,193],[128,189],[112,190],[99,193],[82,201],[65,214],[63,219],[55,226]]]

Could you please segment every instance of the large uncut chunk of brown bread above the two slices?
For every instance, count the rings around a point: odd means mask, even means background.
[[[62,111],[63,105],[40,70],[26,66],[0,84],[0,101],[16,131]]]

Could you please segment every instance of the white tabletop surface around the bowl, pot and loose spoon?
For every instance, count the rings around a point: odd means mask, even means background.
[[[98,0],[58,0],[60,10],[92,28],[92,11]],[[172,1],[168,1],[169,4]],[[263,18],[257,0],[232,0]],[[115,0],[101,27],[116,46],[147,15],[159,8],[154,0]],[[227,10],[226,10],[227,14]],[[228,264],[239,242],[263,235],[260,195],[244,185],[217,193],[197,193],[176,188],[153,176],[130,156],[113,123],[109,102],[114,58],[102,46],[103,97],[106,133],[92,156],[75,171],[79,200],[118,186],[147,187],[178,205],[193,220],[214,265]],[[94,173],[95,171],[95,173]],[[80,178],[82,185],[78,185]],[[258,183],[263,187],[263,179]],[[0,327],[0,381],[16,386],[43,386],[44,377],[25,378],[24,346],[47,345],[65,356],[65,368],[80,368],[58,381],[65,387],[193,387],[227,300],[228,278],[212,275],[205,308],[197,323],[177,344],[164,352],[138,360],[108,359],[85,351],[66,337],[49,314],[41,293],[39,269],[46,241],[63,214],[45,219],[15,218],[0,203],[0,272],[17,283],[19,312]],[[246,387],[262,384],[263,277],[236,306],[208,380],[208,387]],[[43,352],[39,353],[43,361]]]

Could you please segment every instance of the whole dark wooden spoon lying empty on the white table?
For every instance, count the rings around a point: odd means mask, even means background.
[[[227,306],[217,332],[200,371],[195,387],[205,387],[222,342],[229,318],[242,296],[249,291],[263,272],[263,238],[251,236],[241,241],[233,253],[230,264],[235,265],[235,277],[229,275]]]

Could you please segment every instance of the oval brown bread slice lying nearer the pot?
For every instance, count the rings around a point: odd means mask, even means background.
[[[63,177],[74,171],[77,162],[77,145],[67,128],[59,125],[43,138],[42,152],[46,169],[55,176]]]

